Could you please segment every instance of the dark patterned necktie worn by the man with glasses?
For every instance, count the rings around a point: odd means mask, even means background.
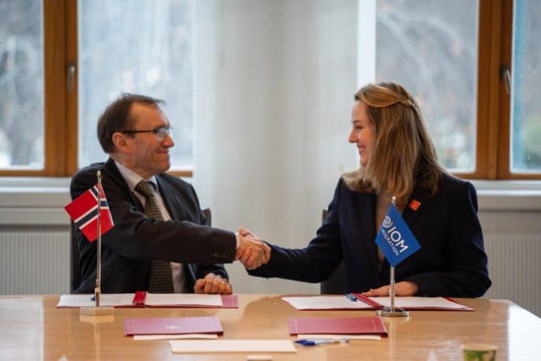
[[[154,184],[141,181],[135,186],[135,190],[144,196],[144,214],[149,218],[163,220],[163,215],[154,196]],[[150,262],[150,293],[174,293],[173,272],[171,263],[163,260],[152,260]]]

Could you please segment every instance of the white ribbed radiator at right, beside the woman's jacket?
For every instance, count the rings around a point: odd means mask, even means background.
[[[515,302],[541,316],[541,235],[485,234],[492,287],[485,298]]]

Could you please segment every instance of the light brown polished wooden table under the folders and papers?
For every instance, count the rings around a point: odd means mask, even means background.
[[[239,308],[117,308],[112,320],[82,320],[56,309],[58,295],[0,297],[0,359],[6,360],[245,360],[247,353],[173,355],[168,341],[123,336],[128,317],[216,315],[223,338],[287,339],[290,317],[373,316],[373,311],[297,311],[281,295],[239,295]],[[457,299],[475,312],[412,311],[385,319],[388,338],[349,344],[296,346],[274,360],[461,360],[462,343],[491,343],[497,360],[539,360],[541,319],[507,300]],[[64,357],[64,358],[63,358]]]

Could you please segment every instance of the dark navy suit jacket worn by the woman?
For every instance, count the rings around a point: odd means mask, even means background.
[[[394,278],[413,281],[418,295],[479,297],[490,287],[483,233],[477,217],[477,195],[471,183],[443,175],[431,196],[417,187],[402,216],[421,250],[398,264]],[[375,195],[354,192],[340,179],[328,216],[316,238],[304,249],[272,245],[270,262],[249,271],[254,276],[321,282],[344,261],[347,290],[360,293],[390,283],[390,267],[378,271],[375,245]]]

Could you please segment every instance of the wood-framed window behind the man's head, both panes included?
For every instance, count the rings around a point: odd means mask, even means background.
[[[0,14],[0,175],[106,159],[96,123],[122,92],[166,100],[172,170],[191,175],[191,0],[7,0]]]

